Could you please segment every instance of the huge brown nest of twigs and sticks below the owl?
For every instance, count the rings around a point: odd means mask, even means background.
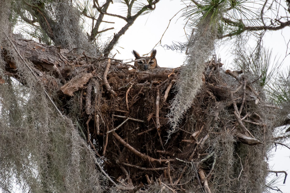
[[[63,108],[75,113],[80,135],[123,189],[158,183],[173,192],[264,190],[273,111],[255,91],[256,80],[211,60],[200,93],[168,138],[182,67],[140,72],[119,60],[83,60],[61,72],[64,102],[77,107]]]

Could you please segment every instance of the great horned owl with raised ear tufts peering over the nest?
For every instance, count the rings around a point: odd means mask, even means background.
[[[157,61],[156,61],[156,49],[153,49],[153,51],[151,52],[151,55],[148,57],[141,57],[138,52],[136,52],[135,50],[133,50],[133,54],[135,56],[135,60],[138,59],[144,59],[144,60],[138,60],[135,61],[134,66],[137,67],[137,70],[150,70],[156,67],[159,67],[157,65]]]

